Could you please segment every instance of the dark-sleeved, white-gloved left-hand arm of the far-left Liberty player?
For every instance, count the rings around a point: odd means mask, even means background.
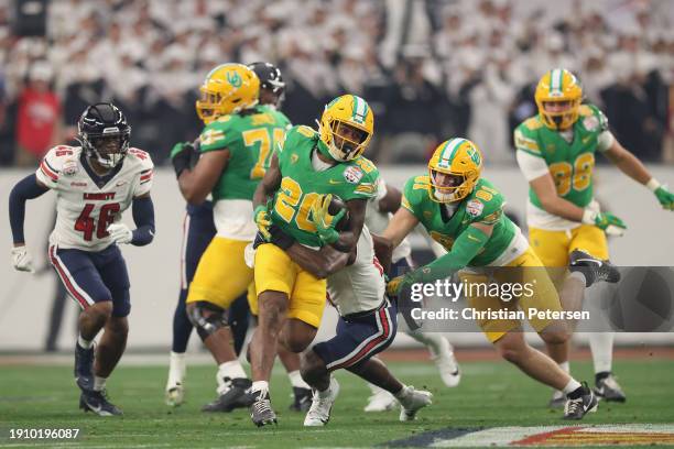
[[[14,248],[12,249],[12,262],[14,269],[19,271],[33,271],[31,255],[25,248],[25,237],[23,234],[23,223],[25,221],[25,201],[37,198],[48,190],[35,174],[21,179],[12,188],[9,197],[9,220],[12,229]]]

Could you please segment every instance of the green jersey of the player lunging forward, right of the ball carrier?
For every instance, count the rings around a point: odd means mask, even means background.
[[[407,209],[426,228],[433,240],[447,251],[471,223],[494,225],[491,237],[470,261],[470,266],[485,266],[508,249],[515,236],[515,225],[503,213],[506,200],[487,179],[480,178],[470,195],[448,217],[445,206],[431,199],[428,176],[415,176],[405,183],[401,206]]]

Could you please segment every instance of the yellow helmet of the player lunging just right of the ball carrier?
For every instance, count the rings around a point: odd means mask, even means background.
[[[428,161],[431,189],[436,202],[454,202],[466,198],[482,173],[482,154],[467,139],[449,139],[437,145]]]

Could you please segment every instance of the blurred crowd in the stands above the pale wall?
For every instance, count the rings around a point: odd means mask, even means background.
[[[283,70],[293,122],[313,124],[345,91],[366,98],[379,163],[424,162],[453,135],[512,162],[511,130],[536,113],[535,83],[557,66],[628,149],[674,158],[667,0],[52,0],[45,37],[17,35],[12,8],[0,0],[1,165],[34,164],[100,100],[161,162],[198,135],[210,68],[256,61]]]

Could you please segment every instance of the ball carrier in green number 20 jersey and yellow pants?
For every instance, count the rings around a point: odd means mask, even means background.
[[[326,106],[318,132],[292,128],[256,191],[254,220],[260,232],[268,238],[275,225],[301,244],[331,244],[350,252],[362,230],[367,200],[377,193],[379,172],[361,156],[373,129],[372,110],[354,95]],[[350,219],[343,232],[335,230],[335,217],[327,210],[328,194],[346,202]],[[250,343],[256,397],[251,418],[263,426],[276,421],[268,383],[276,343],[281,340],[291,351],[302,352],[312,342],[325,307],[326,281],[303,270],[272,243],[258,247],[254,272],[259,326]],[[256,308],[251,305],[251,310]]]

